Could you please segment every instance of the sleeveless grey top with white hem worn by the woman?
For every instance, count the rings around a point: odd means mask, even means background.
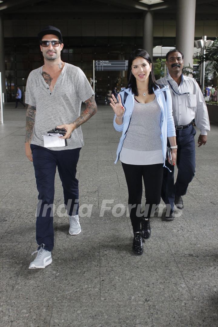
[[[161,108],[157,98],[149,103],[134,101],[134,108],[120,160],[128,164],[163,163]]]

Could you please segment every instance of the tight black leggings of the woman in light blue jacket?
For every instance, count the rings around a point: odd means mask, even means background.
[[[152,206],[158,206],[160,203],[163,164],[133,165],[122,163],[122,166],[128,187],[129,215],[133,232],[139,232],[141,230],[141,217],[150,217]],[[146,203],[145,212],[141,215],[142,179],[144,181]]]

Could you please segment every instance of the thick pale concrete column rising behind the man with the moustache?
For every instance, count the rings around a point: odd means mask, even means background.
[[[176,49],[184,54],[184,66],[193,67],[196,0],[177,0]]]

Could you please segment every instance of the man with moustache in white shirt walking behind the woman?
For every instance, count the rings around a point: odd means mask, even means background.
[[[164,169],[161,197],[167,206],[171,206],[167,220],[173,220],[174,203],[177,209],[183,209],[182,196],[186,194],[189,183],[195,173],[195,144],[193,127],[194,119],[197,128],[200,129],[198,147],[206,144],[207,132],[210,130],[210,122],[207,106],[196,82],[191,77],[182,74],[184,65],[183,53],[177,49],[170,50],[166,54],[168,76],[160,78],[157,82],[169,85],[173,102],[173,118],[176,128],[178,174],[174,184],[174,166],[166,161],[168,169]],[[167,211],[168,212],[168,211]]]

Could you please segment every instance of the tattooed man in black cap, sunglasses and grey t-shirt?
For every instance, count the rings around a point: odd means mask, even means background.
[[[77,235],[81,232],[78,180],[75,177],[79,151],[83,146],[81,125],[97,112],[94,92],[83,71],[60,58],[63,49],[60,30],[47,26],[38,37],[44,65],[29,74],[25,96],[28,103],[25,153],[33,162],[39,192],[36,219],[36,240],[39,247],[35,251],[37,257],[30,263],[30,269],[45,268],[52,262],[56,167],[69,215],[69,233]],[[81,102],[86,106],[82,113]],[[64,139],[65,146],[45,147],[43,135],[55,127],[65,129],[65,135],[60,137]]]

